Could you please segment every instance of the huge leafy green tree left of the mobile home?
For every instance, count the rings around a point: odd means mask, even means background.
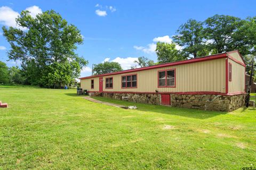
[[[79,76],[88,62],[75,53],[83,38],[74,25],[53,10],[35,18],[22,11],[16,22],[26,30],[3,27],[3,35],[11,45],[7,53],[10,60],[22,61],[22,69],[30,74],[27,83],[52,88]]]

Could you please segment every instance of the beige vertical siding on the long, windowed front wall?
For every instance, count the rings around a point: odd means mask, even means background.
[[[158,70],[176,69],[176,87],[158,88]],[[121,77],[127,74],[137,74],[137,88],[121,88]],[[103,91],[126,92],[194,92],[194,91],[226,91],[225,58],[196,62],[190,64],[162,67],[124,74],[108,75],[103,77]],[[105,88],[107,77],[113,77],[113,89]],[[96,80],[97,79],[97,80]],[[94,78],[94,91],[99,90],[99,78]],[[90,87],[90,79],[81,80],[82,88]],[[89,83],[89,84],[88,84]]]

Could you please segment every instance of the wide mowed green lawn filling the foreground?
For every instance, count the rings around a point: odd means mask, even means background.
[[[256,110],[231,113],[1,87],[0,169],[256,168]]]

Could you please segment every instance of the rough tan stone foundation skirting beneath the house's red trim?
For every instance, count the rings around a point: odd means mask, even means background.
[[[106,93],[103,97],[127,100],[135,103],[161,105],[161,94]],[[178,95],[170,94],[173,107],[204,109],[205,111],[231,112],[245,104],[245,94],[239,95]]]

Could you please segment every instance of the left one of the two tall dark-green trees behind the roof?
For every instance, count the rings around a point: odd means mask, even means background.
[[[182,52],[189,57],[205,56],[209,54],[206,48],[203,23],[189,19],[186,23],[180,25],[177,34],[173,36],[174,42],[182,46]]]

